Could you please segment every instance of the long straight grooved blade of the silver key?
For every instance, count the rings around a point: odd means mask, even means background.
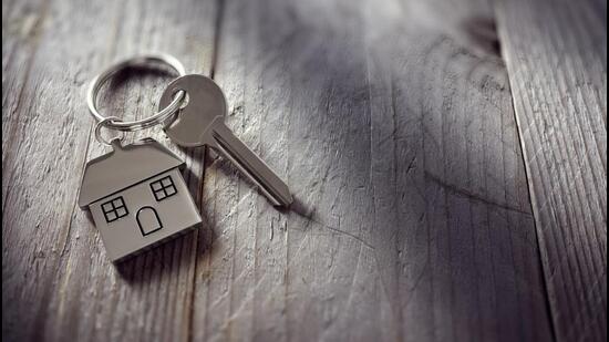
[[[208,145],[230,159],[275,206],[288,207],[292,195],[288,185],[272,172],[246,144],[244,144],[221,121],[216,121]]]

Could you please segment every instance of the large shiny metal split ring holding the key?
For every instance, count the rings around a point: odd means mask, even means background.
[[[158,111],[152,116],[142,120],[121,121],[114,117],[105,117],[100,114],[100,111],[97,111],[97,96],[100,94],[102,85],[107,80],[110,80],[114,74],[126,68],[146,65],[155,62],[171,66],[175,72],[177,72],[178,76],[184,76],[186,74],[184,65],[182,65],[182,63],[176,58],[169,54],[158,53],[135,56],[121,61],[116,64],[111,65],[109,69],[96,75],[91,81],[91,85],[89,86],[89,91],[86,93],[86,104],[89,106],[89,112],[91,113],[91,115],[93,115],[99,124],[104,125],[105,127],[111,129],[134,132],[148,128],[157,124],[163,124],[167,118],[174,115],[177,110],[179,110],[179,107],[182,106],[182,102],[186,96],[186,92],[184,91],[176,92],[174,100],[165,108]]]

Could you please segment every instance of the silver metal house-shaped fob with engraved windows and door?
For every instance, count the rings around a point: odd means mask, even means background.
[[[182,177],[184,162],[154,139],[112,151],[86,164],[79,206],[89,207],[107,256],[118,261],[200,224]]]

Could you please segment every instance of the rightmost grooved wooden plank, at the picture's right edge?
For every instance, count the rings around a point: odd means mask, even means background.
[[[556,336],[607,339],[607,2],[499,1]]]

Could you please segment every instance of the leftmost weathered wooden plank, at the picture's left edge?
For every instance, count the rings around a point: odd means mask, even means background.
[[[2,334],[9,339],[43,336],[54,297],[87,146],[81,90],[99,60],[87,42],[112,33],[101,29],[109,12],[90,10],[95,20],[82,7],[16,1],[2,21],[2,308],[11,313]],[[71,32],[72,24],[79,30]]]

